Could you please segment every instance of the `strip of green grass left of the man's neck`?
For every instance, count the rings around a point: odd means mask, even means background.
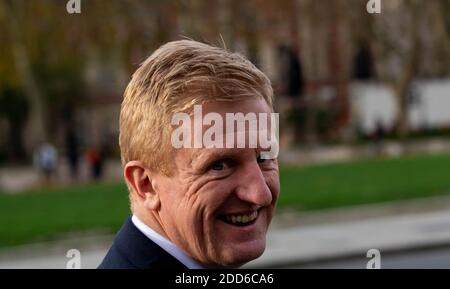
[[[54,239],[72,231],[116,231],[128,212],[124,184],[0,194],[0,246]]]

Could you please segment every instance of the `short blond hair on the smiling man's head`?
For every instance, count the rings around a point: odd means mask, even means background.
[[[207,101],[263,98],[273,107],[270,80],[240,54],[180,40],[164,44],[133,74],[120,111],[122,164],[143,161],[170,175],[173,113]]]

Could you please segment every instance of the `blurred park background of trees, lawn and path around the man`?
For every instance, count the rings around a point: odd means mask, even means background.
[[[368,2],[0,0],[0,268],[98,265],[129,214],[123,91],[183,38],[275,89],[281,196],[249,267],[450,268],[450,0]]]

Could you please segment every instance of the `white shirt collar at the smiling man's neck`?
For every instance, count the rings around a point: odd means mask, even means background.
[[[144,224],[141,220],[139,220],[137,216],[133,215],[131,217],[131,221],[136,226],[136,228],[141,231],[142,234],[144,234],[147,238],[163,248],[175,259],[183,263],[184,266],[188,267],[189,269],[203,269],[203,267],[198,262],[186,255],[186,253],[184,253],[174,243],[170,242],[169,240],[155,232],[152,228]]]

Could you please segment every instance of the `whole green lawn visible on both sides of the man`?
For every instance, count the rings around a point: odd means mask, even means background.
[[[316,210],[450,193],[450,154],[281,169],[279,207]],[[70,231],[117,230],[128,214],[125,185],[95,184],[0,194],[0,246]]]

